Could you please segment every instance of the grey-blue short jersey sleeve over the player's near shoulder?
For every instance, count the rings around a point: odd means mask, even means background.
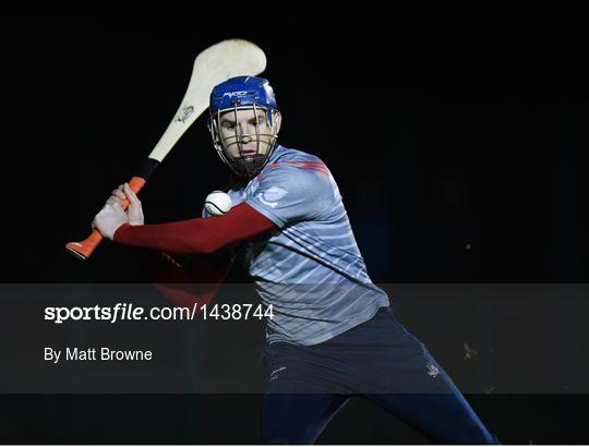
[[[321,219],[334,206],[336,194],[323,162],[285,162],[264,172],[245,203],[284,228],[290,222]]]

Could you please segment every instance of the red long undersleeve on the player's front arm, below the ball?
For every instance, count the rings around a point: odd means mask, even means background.
[[[214,253],[226,245],[262,234],[276,226],[248,204],[225,216],[169,224],[130,226],[115,232],[115,241],[177,254]]]

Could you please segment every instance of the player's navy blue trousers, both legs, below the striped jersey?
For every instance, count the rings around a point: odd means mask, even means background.
[[[263,361],[269,374],[264,444],[312,444],[353,396],[374,401],[434,443],[500,444],[390,307],[318,345],[269,345]]]

